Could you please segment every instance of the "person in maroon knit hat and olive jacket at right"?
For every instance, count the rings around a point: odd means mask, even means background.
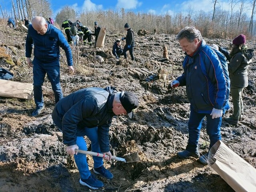
[[[229,118],[224,118],[224,120],[234,125],[238,124],[238,121],[242,121],[244,108],[242,93],[244,88],[248,86],[248,68],[252,63],[253,52],[253,49],[246,46],[245,35],[241,34],[234,38],[230,51],[231,60],[228,64],[233,114]]]

